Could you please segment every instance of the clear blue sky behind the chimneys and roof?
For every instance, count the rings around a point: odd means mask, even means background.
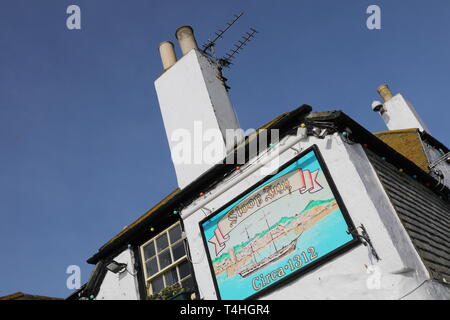
[[[71,4],[81,30],[66,28]],[[447,0],[2,0],[0,295],[69,295],[67,266],[86,281],[86,259],[176,187],[158,44],[186,24],[201,44],[241,11],[217,51],[260,32],[225,73],[244,129],[307,103],[382,131],[370,104],[387,82],[450,145]]]

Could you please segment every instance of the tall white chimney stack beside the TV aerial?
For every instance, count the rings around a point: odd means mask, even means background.
[[[239,123],[221,72],[198,50],[192,28],[181,27],[176,36],[183,57],[156,79],[155,88],[178,185],[184,188],[225,157],[226,130],[239,129]],[[204,134],[211,132],[218,133],[214,148],[223,151],[216,162],[204,157],[212,144]]]

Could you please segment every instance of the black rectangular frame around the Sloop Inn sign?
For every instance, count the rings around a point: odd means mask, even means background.
[[[317,260],[311,261],[309,264],[307,264],[304,267],[301,267],[300,269],[286,275],[285,277],[283,277],[282,279],[278,280],[277,282],[275,282],[274,284],[271,284],[270,286],[268,286],[267,288],[263,288],[261,289],[261,291],[254,293],[253,295],[248,296],[247,298],[244,298],[242,300],[253,300],[257,297],[261,297],[263,295],[266,295],[274,290],[276,290],[277,288],[279,288],[280,286],[286,284],[287,282],[290,282],[292,280],[295,280],[297,278],[300,278],[302,276],[304,276],[305,274],[307,274],[308,272],[310,272],[311,270],[329,262],[330,260],[336,258],[337,256],[353,249],[354,247],[356,247],[357,245],[361,244],[361,240],[358,239],[358,237],[355,236],[354,234],[354,230],[356,230],[355,225],[348,213],[348,210],[344,204],[344,201],[342,200],[341,195],[339,194],[339,191],[337,190],[337,187],[333,181],[333,178],[328,170],[328,167],[320,153],[319,147],[314,144],[312,146],[310,146],[309,148],[307,148],[306,150],[304,150],[303,152],[301,152],[299,155],[295,156],[294,158],[292,158],[291,160],[289,160],[287,163],[285,163],[284,165],[282,165],[281,167],[278,168],[278,170],[276,172],[274,172],[271,175],[268,175],[266,177],[264,177],[263,179],[259,180],[257,183],[253,184],[250,188],[247,188],[245,191],[241,192],[238,196],[236,196],[235,198],[233,198],[231,201],[228,201],[225,205],[221,206],[219,209],[215,210],[212,214],[208,215],[207,217],[205,217],[204,219],[202,219],[199,222],[199,228],[200,228],[200,234],[202,235],[202,239],[203,239],[203,246],[204,246],[204,250],[206,251],[206,256],[208,258],[208,264],[209,264],[209,269],[211,272],[211,276],[212,276],[212,280],[214,283],[214,289],[216,291],[216,296],[218,300],[222,300],[221,298],[221,294],[220,294],[220,289],[219,289],[219,285],[217,283],[217,279],[215,276],[215,272],[214,272],[214,267],[213,267],[213,259],[211,258],[211,254],[209,252],[208,249],[208,239],[206,239],[205,236],[205,231],[203,228],[203,224],[209,220],[211,220],[213,217],[215,217],[216,215],[220,214],[223,210],[225,210],[227,207],[229,207],[230,205],[232,205],[233,203],[235,203],[236,201],[238,201],[239,199],[245,197],[246,195],[250,194],[252,191],[258,189],[259,186],[261,186],[262,184],[264,184],[266,181],[270,180],[271,178],[273,178],[275,175],[277,175],[278,173],[280,173],[281,171],[283,171],[284,169],[286,169],[287,167],[289,167],[290,165],[292,165],[293,163],[295,163],[296,161],[300,160],[301,158],[303,158],[305,155],[307,155],[310,152],[314,152],[314,155],[317,158],[317,161],[319,162],[319,165],[323,171],[323,174],[325,176],[326,182],[328,183],[328,186],[331,189],[331,192],[338,204],[338,207],[342,213],[342,216],[348,226],[348,232],[349,235],[352,236],[352,240],[350,240],[349,242],[345,243],[344,245],[328,252],[327,254],[323,255],[322,257],[319,257]]]

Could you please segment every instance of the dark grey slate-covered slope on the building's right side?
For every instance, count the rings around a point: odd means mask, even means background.
[[[374,152],[367,155],[431,277],[450,284],[450,203]]]

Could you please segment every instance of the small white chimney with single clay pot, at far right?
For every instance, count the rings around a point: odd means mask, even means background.
[[[403,95],[399,93],[394,96],[386,84],[379,86],[377,91],[385,102],[379,107],[372,105],[372,109],[380,113],[389,130],[418,128],[430,133],[411,102]]]

